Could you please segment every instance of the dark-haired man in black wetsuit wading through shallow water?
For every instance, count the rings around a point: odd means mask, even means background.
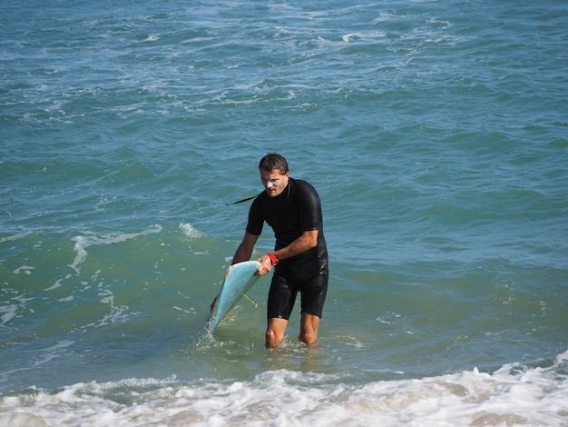
[[[284,339],[289,316],[301,293],[298,340],[308,345],[318,339],[319,319],[328,290],[328,249],[323,235],[319,196],[305,181],[289,177],[288,163],[280,154],[260,160],[265,191],[250,205],[249,222],[232,263],[250,260],[254,245],[268,223],[276,237],[274,252],[258,259],[258,274],[274,275],[269,290],[266,347]]]

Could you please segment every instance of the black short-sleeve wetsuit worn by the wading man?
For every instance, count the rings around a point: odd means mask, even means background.
[[[274,268],[268,318],[288,320],[298,292],[302,313],[321,317],[328,290],[328,249],[315,188],[305,181],[289,178],[287,187],[278,196],[262,192],[250,206],[247,232],[260,235],[264,222],[274,231],[275,251],[288,246],[305,231],[318,230],[316,247],[281,260]]]

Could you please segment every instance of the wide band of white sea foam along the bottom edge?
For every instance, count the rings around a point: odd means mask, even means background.
[[[262,372],[246,382],[123,380],[30,390],[0,401],[8,425],[549,425],[568,422],[568,352],[553,366],[511,363],[433,378],[348,384]],[[348,380],[348,378],[346,378]]]

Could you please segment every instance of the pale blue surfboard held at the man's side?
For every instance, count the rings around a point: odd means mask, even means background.
[[[255,275],[259,267],[260,263],[257,261],[245,261],[229,267],[211,310],[208,321],[210,333],[215,332],[220,321],[230,312],[241,296],[249,298],[246,293],[259,278]]]

